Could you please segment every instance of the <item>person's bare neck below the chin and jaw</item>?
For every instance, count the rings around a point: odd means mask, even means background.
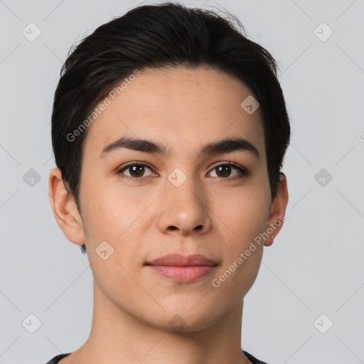
[[[247,364],[241,349],[243,301],[208,327],[156,327],[109,301],[94,282],[92,329],[72,363]],[[67,359],[67,358],[65,358]]]

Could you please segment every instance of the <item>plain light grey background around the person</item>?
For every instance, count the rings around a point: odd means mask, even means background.
[[[291,117],[287,221],[246,296],[242,348],[269,364],[364,363],[364,1],[184,3],[241,19],[277,59]],[[53,94],[70,46],[139,4],[0,0],[0,363],[45,363],[90,333],[87,256],[48,198]]]

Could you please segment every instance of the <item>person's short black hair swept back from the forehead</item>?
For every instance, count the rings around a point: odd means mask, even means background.
[[[81,216],[82,143],[88,129],[71,140],[69,136],[115,83],[136,69],[213,68],[249,87],[262,112],[272,199],[277,195],[291,133],[277,63],[265,48],[247,38],[238,18],[227,14],[232,21],[215,11],[178,3],[137,6],[71,47],[55,90],[52,146],[55,164]],[[80,248],[85,254],[85,244]]]

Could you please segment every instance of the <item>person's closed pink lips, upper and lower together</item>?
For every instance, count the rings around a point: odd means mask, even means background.
[[[146,267],[157,274],[184,283],[196,282],[198,279],[213,273],[217,266],[218,264],[213,260],[199,254],[188,255],[188,257],[170,254],[146,262]]]

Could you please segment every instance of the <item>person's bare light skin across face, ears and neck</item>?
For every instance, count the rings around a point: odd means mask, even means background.
[[[59,169],[50,171],[55,219],[70,242],[85,242],[94,276],[90,337],[61,364],[250,363],[241,350],[243,299],[257,277],[264,245],[272,245],[283,223],[220,287],[211,282],[284,215],[288,192],[282,174],[271,200],[262,115],[259,108],[247,114],[240,106],[248,95],[242,82],[219,70],[143,70],[89,126],[82,219]],[[161,142],[171,154],[120,149],[99,157],[122,136]],[[203,145],[225,137],[247,139],[260,160],[247,151],[198,157]],[[151,169],[118,173],[133,161]],[[220,161],[234,161],[250,174],[240,176],[234,166],[219,173]],[[168,180],[175,168],[186,176],[179,187]],[[138,173],[144,181],[131,180]],[[95,252],[104,240],[114,249],[105,260]],[[218,267],[182,284],[144,265],[174,252],[204,255]],[[183,323],[179,330],[171,324],[176,315]]]

